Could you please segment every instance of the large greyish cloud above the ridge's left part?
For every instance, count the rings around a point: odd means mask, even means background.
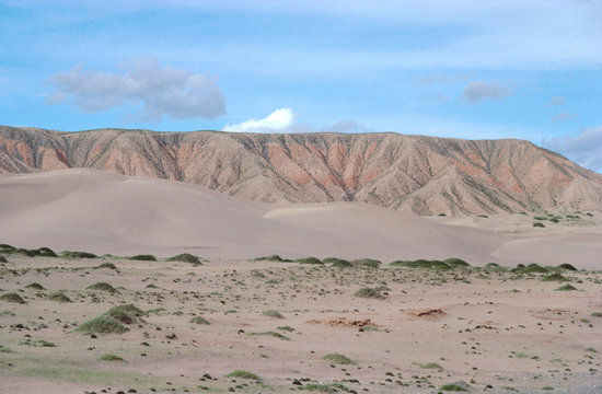
[[[225,113],[225,100],[213,78],[162,67],[158,59],[126,65],[125,72],[84,70],[82,65],[49,79],[56,91],[47,99],[58,104],[71,99],[83,112],[101,112],[125,104],[143,104],[144,120],[215,118]]]

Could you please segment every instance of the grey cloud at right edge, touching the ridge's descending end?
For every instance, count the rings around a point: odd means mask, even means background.
[[[582,128],[574,137],[544,140],[542,146],[563,153],[587,169],[602,171],[602,126]]]

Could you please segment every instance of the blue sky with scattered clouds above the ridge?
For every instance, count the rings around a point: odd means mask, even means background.
[[[520,138],[602,171],[601,1],[0,1],[0,124]]]

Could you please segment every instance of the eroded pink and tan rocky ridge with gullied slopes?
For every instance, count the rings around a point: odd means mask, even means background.
[[[420,215],[602,209],[602,175],[521,140],[0,127],[0,172],[169,178],[264,201],[356,200]]]

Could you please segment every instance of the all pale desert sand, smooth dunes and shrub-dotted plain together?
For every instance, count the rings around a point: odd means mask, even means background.
[[[104,255],[2,247],[2,393],[602,390],[600,212],[263,205],[93,170],[0,175],[0,243]],[[181,253],[200,260],[165,259]],[[273,254],[382,264],[254,259]],[[389,265],[447,257],[471,266]]]

